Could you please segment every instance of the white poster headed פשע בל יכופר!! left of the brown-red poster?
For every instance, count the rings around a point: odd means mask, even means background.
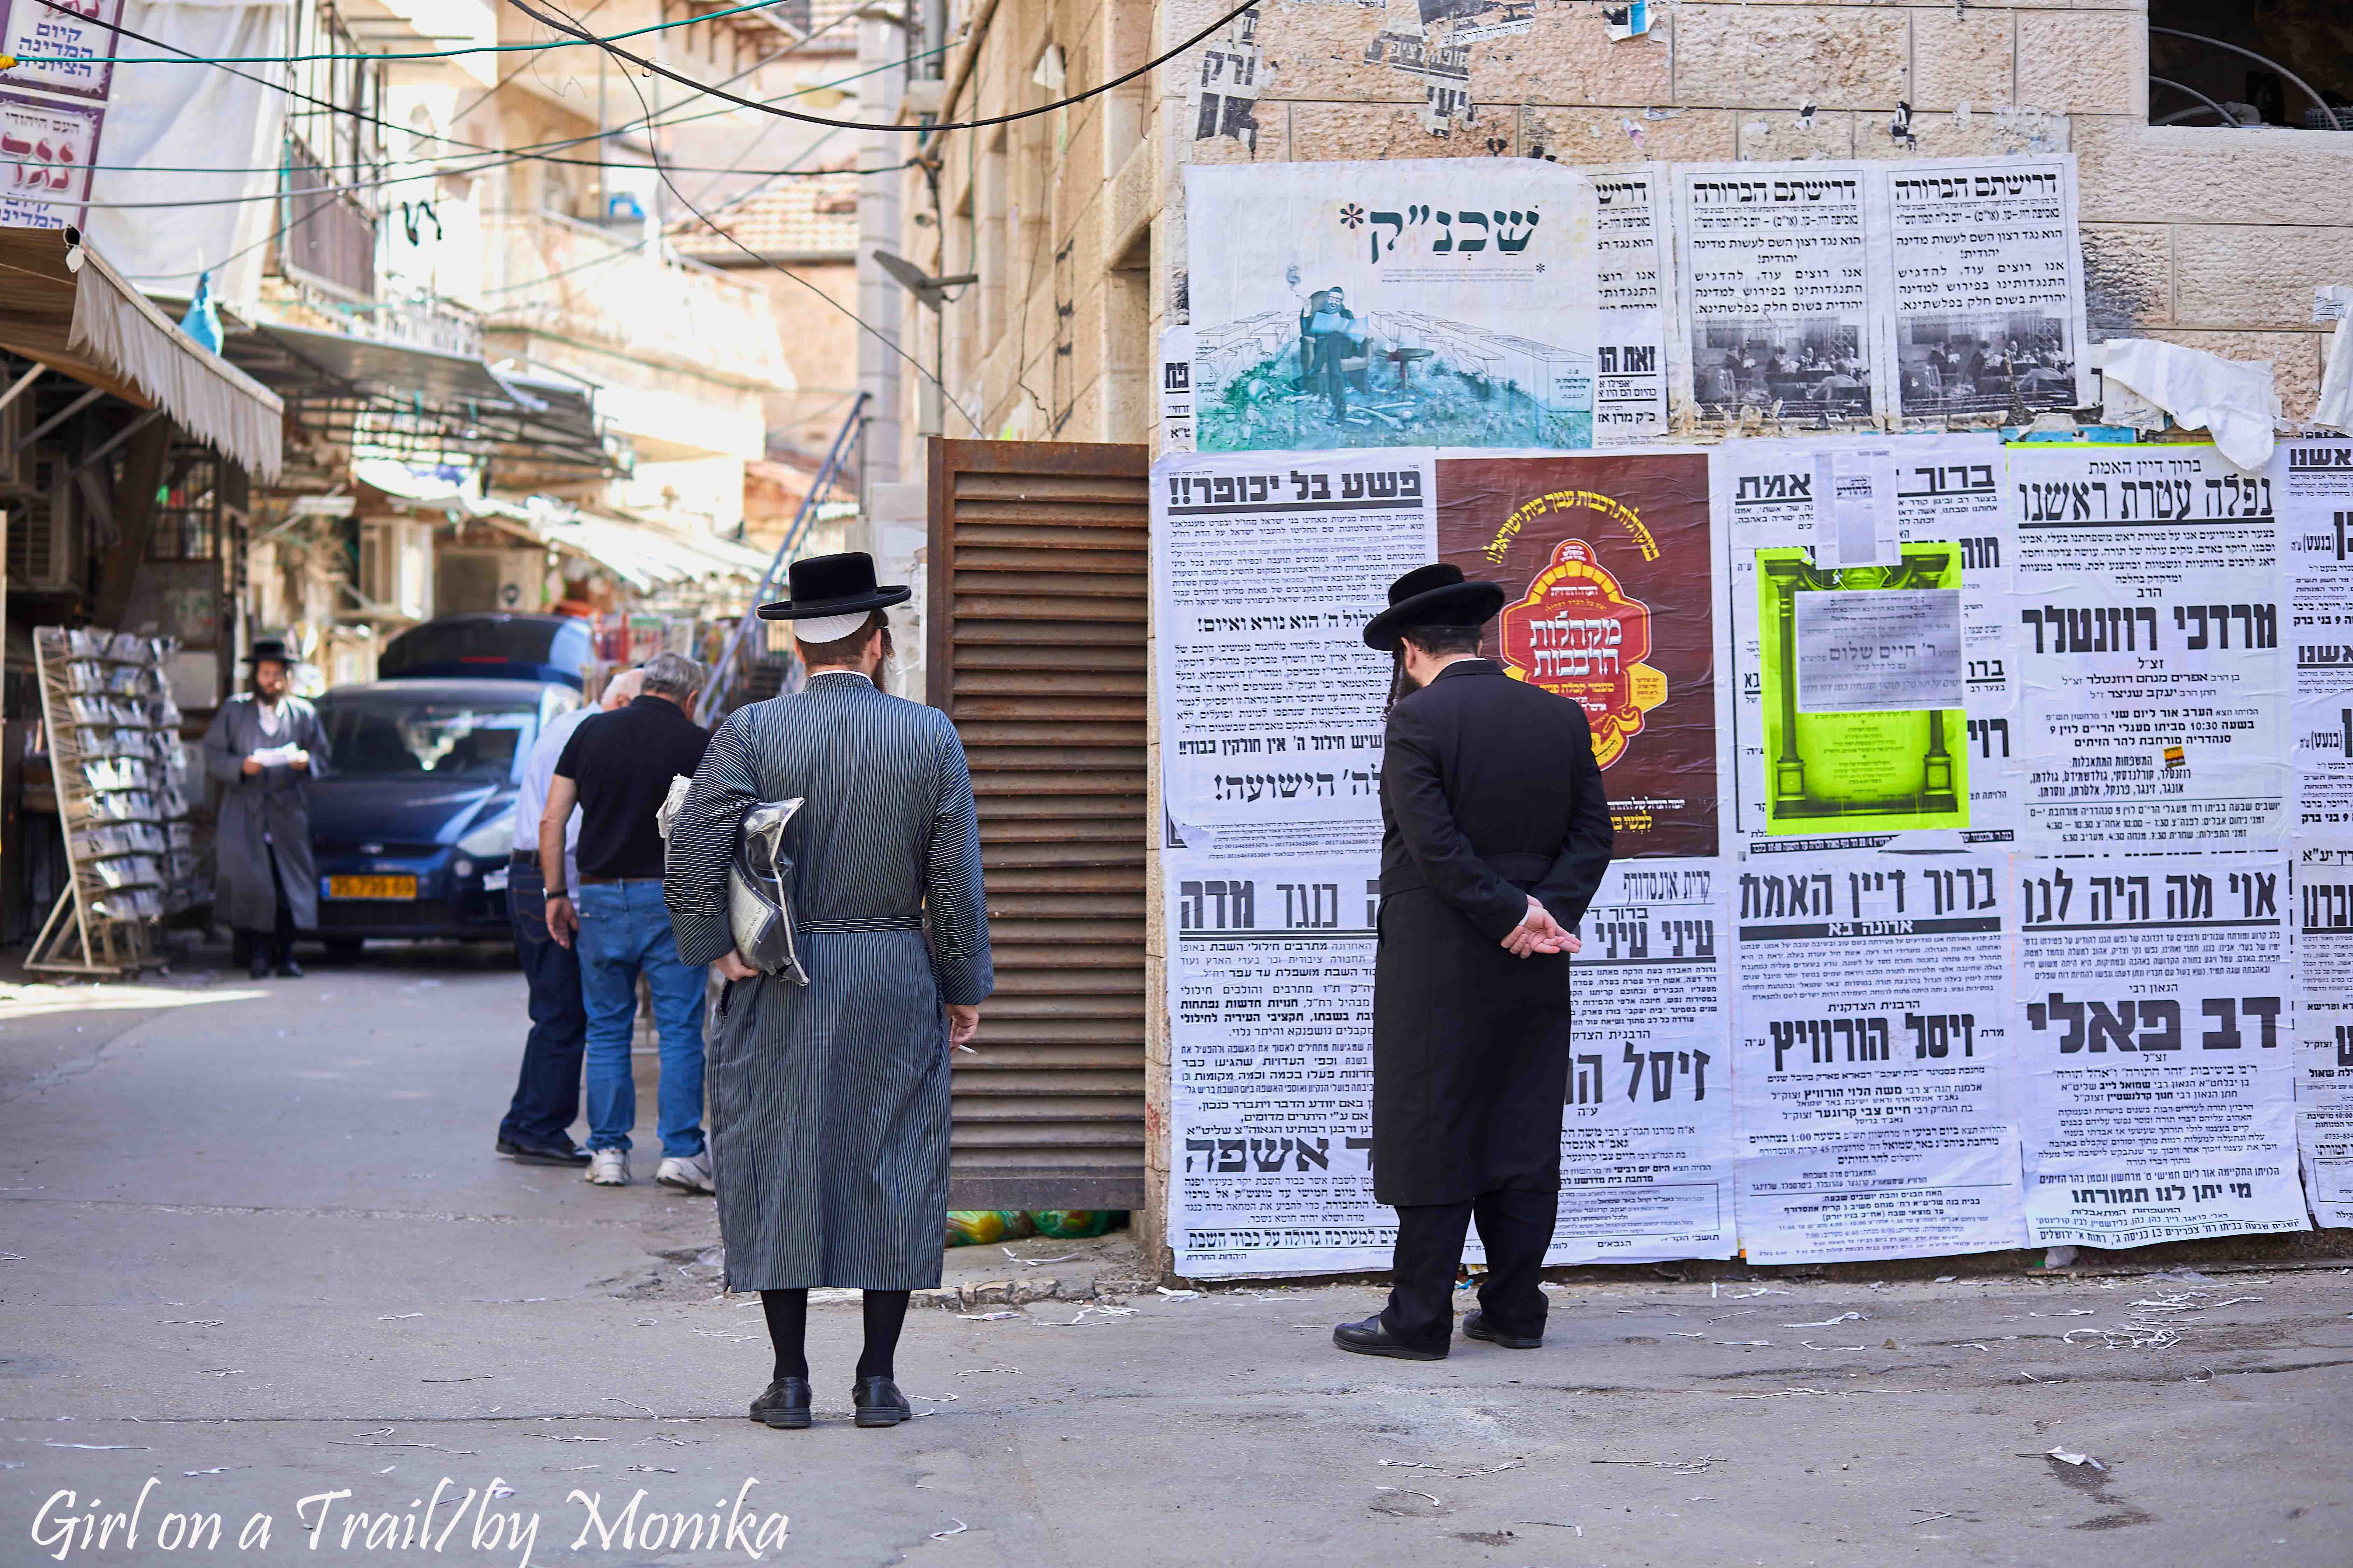
[[[1431,454],[1165,456],[1151,487],[1162,804],[1179,837],[1369,849],[1391,661],[1362,630],[1435,550]]]

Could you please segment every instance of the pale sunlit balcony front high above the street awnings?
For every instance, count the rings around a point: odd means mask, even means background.
[[[553,212],[494,214],[492,331],[548,331],[762,388],[791,386],[767,294]]]

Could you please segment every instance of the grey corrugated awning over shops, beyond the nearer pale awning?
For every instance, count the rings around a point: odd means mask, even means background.
[[[405,461],[619,468],[586,390],[501,374],[478,355],[278,322],[228,334],[221,353],[334,442]]]

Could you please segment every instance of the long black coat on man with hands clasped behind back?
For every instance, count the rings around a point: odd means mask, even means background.
[[[1569,954],[1515,959],[1529,896],[1577,929],[1609,870],[1586,712],[1485,658],[1388,715],[1372,992],[1372,1192],[1560,1187]]]

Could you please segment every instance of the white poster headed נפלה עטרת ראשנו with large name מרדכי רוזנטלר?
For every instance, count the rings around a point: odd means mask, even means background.
[[[2212,447],[2009,449],[2026,835],[2042,853],[2280,851],[2275,487]]]

